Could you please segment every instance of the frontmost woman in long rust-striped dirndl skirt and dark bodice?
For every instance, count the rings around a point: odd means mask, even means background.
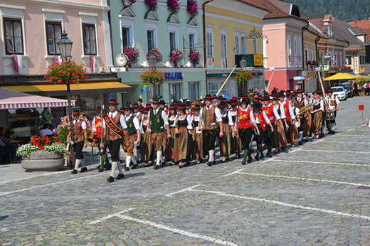
[[[189,164],[189,136],[191,135],[191,116],[185,113],[186,106],[179,104],[177,106],[176,129],[174,154],[175,160],[179,162],[179,168]]]

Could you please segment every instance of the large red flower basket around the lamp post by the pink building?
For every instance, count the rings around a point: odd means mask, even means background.
[[[48,67],[45,78],[53,84],[78,84],[86,79],[86,69],[75,62],[53,63]]]

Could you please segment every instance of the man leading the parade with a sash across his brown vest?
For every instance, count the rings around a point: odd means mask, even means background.
[[[128,132],[127,132],[127,124],[125,117],[117,112],[117,101],[110,100],[108,102],[110,112],[104,114],[102,128],[103,131],[103,139],[107,141],[107,143],[102,143],[101,148],[104,148],[105,144],[107,144],[108,149],[110,150],[110,156],[112,158],[112,170],[110,172],[110,176],[107,178],[107,182],[114,182],[115,179],[119,180],[124,178],[122,173],[121,165],[117,162],[120,161],[119,152],[120,146],[122,145],[122,139],[126,137],[128,139]],[[127,142],[125,142],[127,146]],[[115,176],[115,171],[118,169],[118,175]]]

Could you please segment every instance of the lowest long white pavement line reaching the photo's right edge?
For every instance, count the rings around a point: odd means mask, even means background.
[[[239,198],[239,199],[244,199],[244,200],[255,200],[258,202],[264,202],[264,203],[272,203],[276,205],[282,205],[285,207],[290,207],[290,208],[300,208],[303,210],[313,210],[313,211],[318,211],[322,213],[330,213],[334,215],[341,215],[344,217],[350,217],[350,218],[361,218],[365,220],[370,220],[370,216],[365,216],[365,215],[356,215],[353,213],[343,213],[335,210],[327,210],[327,209],[322,209],[322,208],[314,208],[314,207],[309,207],[309,206],[302,206],[302,205],[295,205],[295,204],[290,204],[290,203],[282,203],[277,200],[268,200],[268,199],[263,199],[263,198],[253,198],[249,196],[237,196],[233,194],[228,194],[220,191],[203,191],[203,190],[191,190],[191,191],[196,191],[196,192],[203,192],[203,193],[211,193],[211,194],[216,194],[218,196],[226,196],[226,197],[231,197],[231,198]]]

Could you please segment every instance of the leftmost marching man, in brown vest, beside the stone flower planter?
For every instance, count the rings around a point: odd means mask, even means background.
[[[86,129],[88,128],[86,122],[83,119],[80,119],[80,111],[75,109],[72,112],[73,121],[70,126],[70,132],[67,136],[67,142],[70,140],[73,142],[72,147],[73,151],[75,151],[75,169],[73,169],[70,173],[77,174],[78,173],[78,166],[80,164],[83,168],[80,170],[80,173],[88,171],[88,168],[83,161],[83,148],[86,148],[88,145],[85,144],[85,141],[88,140],[88,132]]]

